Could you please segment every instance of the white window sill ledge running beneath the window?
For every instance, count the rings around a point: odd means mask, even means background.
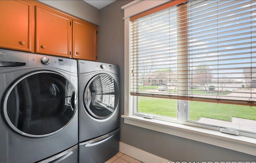
[[[122,115],[124,123],[256,156],[256,139],[178,123]]]

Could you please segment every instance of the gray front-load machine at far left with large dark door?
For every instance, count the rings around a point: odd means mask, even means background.
[[[77,163],[77,62],[0,50],[0,160]]]

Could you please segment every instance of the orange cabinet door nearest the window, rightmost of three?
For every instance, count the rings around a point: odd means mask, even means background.
[[[98,27],[73,20],[72,58],[97,61]]]

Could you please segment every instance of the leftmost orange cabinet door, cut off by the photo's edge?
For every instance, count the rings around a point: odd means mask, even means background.
[[[32,10],[27,1],[0,0],[0,48],[31,52]]]

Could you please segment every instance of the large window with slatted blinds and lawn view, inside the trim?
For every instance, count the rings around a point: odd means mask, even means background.
[[[195,0],[131,17],[133,115],[255,136],[255,13],[250,0]]]

